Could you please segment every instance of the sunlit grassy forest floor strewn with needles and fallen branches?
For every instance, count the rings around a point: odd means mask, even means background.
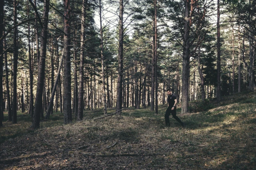
[[[166,107],[158,115],[147,107],[99,120],[88,119],[103,110],[84,111],[88,121],[69,125],[58,112],[37,130],[18,113],[17,124],[1,128],[0,169],[256,169],[255,93],[196,100],[186,115],[179,104],[185,128],[174,119],[164,126]]]

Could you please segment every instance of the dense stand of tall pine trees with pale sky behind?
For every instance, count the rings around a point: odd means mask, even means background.
[[[31,128],[60,110],[188,101],[256,91],[255,0],[2,0],[0,104]]]

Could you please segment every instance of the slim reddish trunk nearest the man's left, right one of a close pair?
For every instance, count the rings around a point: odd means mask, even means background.
[[[155,102],[155,113],[158,114],[158,82],[157,82],[157,0],[154,1],[154,7],[155,7],[155,49],[154,49],[154,53],[155,53],[155,98],[156,98],[156,102]]]

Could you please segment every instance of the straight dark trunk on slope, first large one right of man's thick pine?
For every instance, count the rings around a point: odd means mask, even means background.
[[[220,0],[217,0],[217,100],[221,99],[220,84]]]

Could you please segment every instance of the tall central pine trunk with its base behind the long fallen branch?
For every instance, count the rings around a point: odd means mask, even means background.
[[[119,43],[118,43],[118,75],[117,75],[117,97],[116,97],[116,111],[122,109],[122,90],[123,90],[123,0],[119,1]]]

